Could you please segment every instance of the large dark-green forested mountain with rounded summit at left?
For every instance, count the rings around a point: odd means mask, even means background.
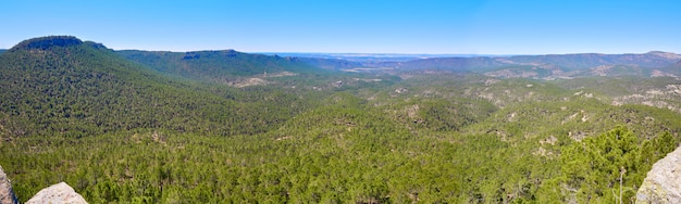
[[[179,61],[242,55],[168,54],[181,55]],[[250,58],[262,56],[245,59]],[[286,62],[267,59],[264,62]],[[249,99],[264,92],[240,92],[224,86],[215,89],[164,77],[102,44],[70,36],[25,40],[0,55],[0,136],[82,137],[136,128],[253,133],[286,120],[296,106],[262,111],[268,102]],[[287,94],[271,98],[270,105],[295,104],[297,99]]]

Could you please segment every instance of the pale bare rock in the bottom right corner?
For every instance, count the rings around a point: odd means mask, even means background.
[[[681,148],[653,165],[636,192],[636,203],[681,203]]]

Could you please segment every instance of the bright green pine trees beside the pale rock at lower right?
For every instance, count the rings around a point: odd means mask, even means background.
[[[652,161],[677,148],[677,139],[664,132],[640,142],[623,127],[565,146],[560,156],[562,188],[575,192],[579,203],[635,201]]]

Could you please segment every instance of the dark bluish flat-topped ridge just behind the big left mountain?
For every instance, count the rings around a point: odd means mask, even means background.
[[[123,50],[117,53],[162,73],[220,82],[264,73],[300,73],[315,69],[292,58],[249,54],[234,50],[197,52]]]

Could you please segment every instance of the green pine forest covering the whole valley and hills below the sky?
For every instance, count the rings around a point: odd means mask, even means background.
[[[677,77],[324,63],[29,39],[0,54],[0,166],[21,202],[633,203],[680,139]]]

